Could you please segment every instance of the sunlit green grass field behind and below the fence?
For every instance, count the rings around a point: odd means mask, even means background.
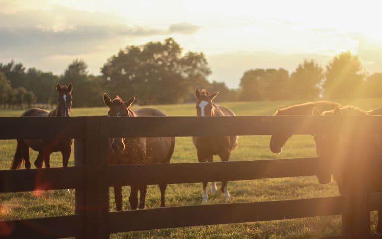
[[[352,104],[365,110],[382,107],[382,99],[362,99],[354,101],[339,100],[343,105]],[[222,105],[230,107],[236,115],[272,115],[275,110],[296,103],[297,101],[275,102],[232,102]],[[195,105],[155,105],[170,116],[194,116]],[[134,106],[134,109],[139,106]],[[19,116],[19,110],[0,110],[0,116]],[[71,116],[105,115],[106,108],[75,108]],[[295,135],[284,146],[281,154],[269,150],[270,136],[239,137],[238,147],[232,152],[232,161],[254,159],[297,158],[316,156],[315,144],[311,136]],[[15,151],[15,140],[2,140],[0,144],[0,169],[7,170]],[[37,154],[31,150],[31,162]],[[215,161],[220,161],[215,156]],[[171,163],[197,162],[196,150],[189,137],[176,138],[176,145]],[[74,165],[73,154],[69,165]],[[54,153],[51,166],[61,166],[61,154]],[[220,183],[218,183],[218,186]],[[208,185],[210,189],[210,184]],[[315,177],[281,178],[270,180],[251,180],[229,182],[231,194],[229,202],[258,202],[283,199],[302,199],[338,195],[335,183],[320,185]],[[129,210],[129,187],[123,189],[123,208]],[[167,206],[198,205],[202,199],[202,185],[169,185],[166,190]],[[146,207],[155,208],[160,203],[158,186],[149,186]],[[225,203],[219,193],[209,193],[208,203]],[[110,191],[110,210],[115,210],[113,190]],[[42,195],[31,192],[0,194],[0,219],[21,219],[45,216],[74,214],[74,190],[52,190]],[[160,219],[158,219],[160,220]],[[126,222],[129,223],[129,222]],[[372,231],[375,231],[376,216],[372,214]],[[255,222],[227,225],[198,226],[176,229],[163,229],[113,234],[115,238],[311,238],[339,235],[341,232],[340,216],[314,217],[272,222]]]

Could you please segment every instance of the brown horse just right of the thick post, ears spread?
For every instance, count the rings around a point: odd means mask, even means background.
[[[128,101],[119,96],[113,100],[105,93],[103,101],[109,107],[108,116],[114,117],[167,117],[160,110],[143,108],[132,111],[130,109],[135,100],[133,95]],[[152,164],[169,163],[174,152],[175,137],[156,138],[114,138],[110,140],[110,164]],[[165,207],[165,190],[167,184],[159,184],[161,193],[160,207]],[[138,205],[138,191],[140,191],[139,208],[145,208],[147,185],[131,185],[129,202],[131,209]],[[114,186],[114,199],[118,211],[122,210],[122,187]]]

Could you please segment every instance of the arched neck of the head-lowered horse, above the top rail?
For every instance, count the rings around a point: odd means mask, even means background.
[[[298,105],[288,106],[282,109],[278,109],[276,115],[311,115],[312,109],[317,108],[319,111],[332,110],[336,106],[341,107],[341,104],[333,101],[313,101]]]

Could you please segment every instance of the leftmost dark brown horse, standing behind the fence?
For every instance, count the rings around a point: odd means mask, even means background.
[[[56,108],[50,112],[38,108],[29,109],[21,114],[21,117],[69,117],[70,109],[72,108],[72,84],[61,86],[60,83],[57,83],[56,89],[58,92]],[[72,139],[17,139],[17,147],[11,169],[20,168],[22,161],[25,161],[25,168],[31,168],[29,148],[39,152],[35,161],[37,168],[41,168],[43,162],[45,162],[45,167],[49,168],[50,154],[58,151],[61,151],[62,154],[62,165],[67,167],[72,142]]]

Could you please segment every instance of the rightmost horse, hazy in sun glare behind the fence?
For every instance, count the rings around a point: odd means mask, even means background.
[[[312,111],[313,116],[321,115],[370,115],[377,111],[364,111],[354,106],[336,107],[334,110],[320,112],[314,108]],[[378,140],[379,135],[377,133],[362,133],[362,132],[350,132],[346,134],[317,134],[314,135],[316,142],[317,155],[320,156],[320,160],[324,160],[324,165],[328,167],[332,165],[345,165],[345,164],[358,164],[354,162],[354,159],[368,158],[368,156],[380,154],[381,147]],[[332,160],[331,160],[332,159]],[[342,159],[342,160],[340,160]],[[346,160],[344,162],[343,160]],[[362,161],[363,163],[368,163]],[[320,173],[316,175],[319,183],[326,184],[331,181],[330,172]],[[337,182],[340,195],[349,194],[352,191],[353,177],[350,173],[333,174],[334,180]],[[382,184],[380,183],[382,176],[371,175],[369,178],[370,189],[372,192],[382,191]],[[378,225],[377,232],[382,232],[382,210],[378,210]]]

